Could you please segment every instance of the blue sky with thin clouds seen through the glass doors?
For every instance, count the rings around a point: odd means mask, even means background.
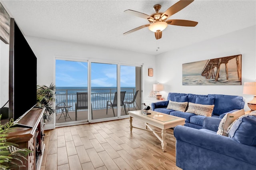
[[[92,87],[116,87],[115,64],[91,64]],[[57,87],[87,87],[88,63],[56,60]],[[121,65],[121,87],[135,87],[135,67]]]

